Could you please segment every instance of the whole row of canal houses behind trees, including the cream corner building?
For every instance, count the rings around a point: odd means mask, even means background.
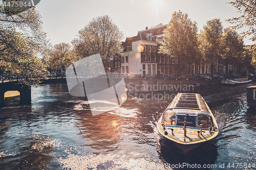
[[[241,68],[236,63],[226,63],[224,60],[216,61],[211,69],[210,63],[186,63],[176,57],[159,54],[159,47],[163,42],[163,31],[167,25],[160,23],[157,26],[138,31],[134,37],[126,38],[122,42],[124,48],[121,56],[104,62],[106,71],[131,73],[138,76],[164,76],[164,75],[225,75],[236,74]]]

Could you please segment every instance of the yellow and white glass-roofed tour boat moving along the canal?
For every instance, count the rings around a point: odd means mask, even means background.
[[[160,117],[157,131],[188,152],[216,138],[219,127],[200,94],[178,93]]]

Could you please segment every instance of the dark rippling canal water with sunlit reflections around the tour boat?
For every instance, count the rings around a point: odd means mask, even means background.
[[[31,105],[6,99],[0,109],[0,169],[256,169],[256,111],[246,102],[246,87],[254,84],[194,89],[221,131],[187,153],[156,130],[171,98],[129,96],[92,116],[65,83],[32,87]]]

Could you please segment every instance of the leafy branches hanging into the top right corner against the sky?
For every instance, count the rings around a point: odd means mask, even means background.
[[[242,32],[242,37],[252,36],[250,39],[256,41],[256,3],[255,0],[234,0],[229,2],[231,6],[238,9],[241,14],[239,17],[228,18],[226,21],[236,24],[233,29],[249,28],[248,31]]]

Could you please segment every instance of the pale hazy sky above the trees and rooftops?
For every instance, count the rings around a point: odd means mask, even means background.
[[[138,31],[159,23],[168,24],[175,11],[187,13],[192,21],[203,29],[207,20],[220,18],[223,28],[232,26],[225,21],[237,17],[237,9],[230,0],[41,0],[36,10],[42,16],[44,31],[52,45],[69,43],[95,17],[109,15],[126,37],[136,36]],[[247,28],[238,32],[246,31]],[[198,33],[199,33],[198,32]],[[249,38],[245,45],[253,44]]]

